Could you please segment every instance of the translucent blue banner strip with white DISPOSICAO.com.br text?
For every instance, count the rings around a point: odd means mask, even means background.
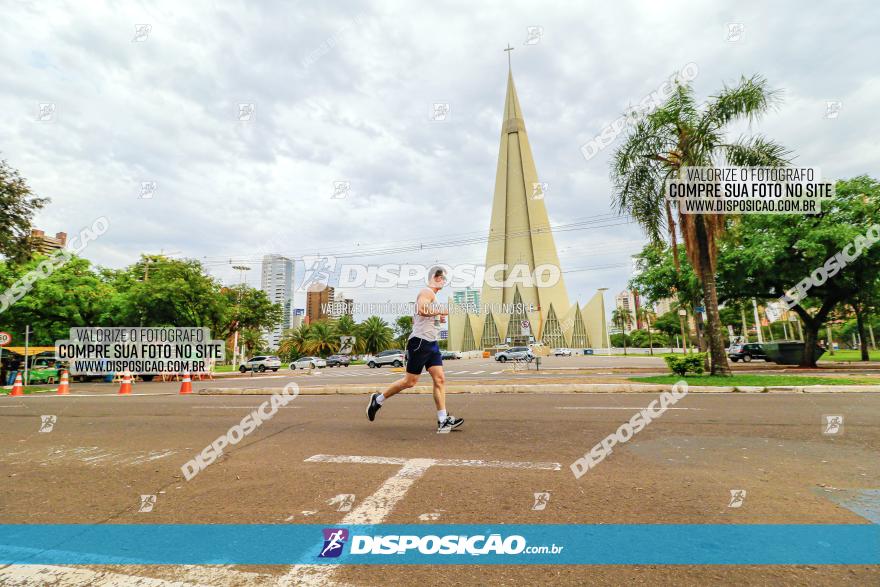
[[[880,526],[15,524],[0,564],[880,564]]]

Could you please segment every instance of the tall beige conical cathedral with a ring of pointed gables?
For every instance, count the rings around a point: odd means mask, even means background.
[[[556,253],[513,71],[495,173],[486,247],[486,279],[479,308],[451,307],[449,349],[542,343],[547,347],[602,346],[602,294],[581,307],[571,304]],[[536,271],[537,269],[537,271]]]

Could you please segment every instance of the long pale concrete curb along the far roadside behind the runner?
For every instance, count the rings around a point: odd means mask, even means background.
[[[361,395],[379,393],[387,385],[326,385],[322,387],[302,387],[301,395]],[[660,393],[672,389],[671,385],[642,383],[542,383],[506,385],[450,385],[447,393]],[[198,390],[198,395],[272,395],[281,391],[280,387],[206,387]],[[417,385],[405,390],[406,393],[431,394],[432,388]],[[880,393],[880,385],[811,385],[798,386],[738,386],[710,387],[690,386],[688,393]]]

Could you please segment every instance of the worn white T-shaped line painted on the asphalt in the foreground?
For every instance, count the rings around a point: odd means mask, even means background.
[[[381,524],[409,488],[432,466],[438,467],[492,467],[505,469],[539,469],[559,471],[559,463],[529,463],[517,461],[480,461],[462,459],[405,459],[396,457],[314,455],[307,463],[357,463],[367,465],[400,465],[373,495],[346,514],[340,524]],[[332,565],[293,565],[278,581],[279,585],[333,585],[335,571]]]

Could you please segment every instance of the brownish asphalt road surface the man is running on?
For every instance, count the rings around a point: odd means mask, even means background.
[[[190,481],[182,477],[181,465],[264,397],[2,397],[0,522],[332,525],[366,512],[373,523],[880,523],[880,518],[871,519],[880,514],[856,513],[846,505],[854,492],[880,488],[880,394],[690,394],[676,405],[681,409],[669,411],[617,447],[597,468],[575,479],[570,463],[654,397],[455,395],[449,399],[449,409],[464,417],[465,425],[453,434],[437,435],[427,396],[394,397],[373,423],[364,416],[364,397],[299,396]],[[827,414],[844,416],[842,434],[823,434],[822,418]],[[56,417],[50,432],[39,431],[45,415]],[[316,460],[316,455],[355,462]],[[431,467],[396,499],[388,499],[380,495],[383,484],[400,465],[357,462],[352,457],[560,466],[558,470]],[[741,507],[730,508],[730,491],[736,489],[745,490],[746,498]],[[549,493],[545,509],[533,509],[535,493]],[[138,511],[145,494],[157,497],[151,512]],[[353,497],[340,500],[339,496]],[[372,501],[367,499],[371,496]],[[650,565],[317,571],[240,566],[0,569],[3,585],[51,581],[59,585],[165,585],[165,581],[866,585],[880,582],[880,569]]]

